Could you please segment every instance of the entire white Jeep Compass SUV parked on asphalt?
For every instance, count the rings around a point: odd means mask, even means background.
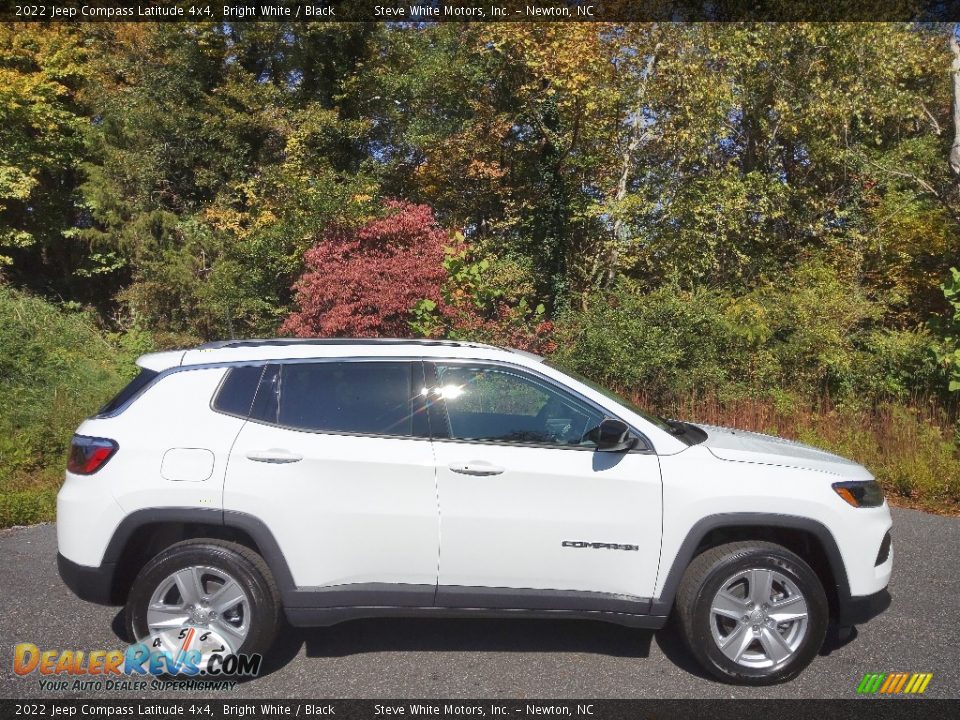
[[[58,561],[154,647],[262,652],[281,612],[658,629],[674,609],[704,668],[766,684],[889,604],[863,467],[651,417],[529,353],[241,340],[138,364],[74,437]]]

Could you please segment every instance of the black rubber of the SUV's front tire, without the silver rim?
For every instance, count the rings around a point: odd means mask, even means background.
[[[816,657],[823,645],[829,622],[829,606],[816,574],[802,561],[774,549],[757,549],[728,556],[717,562],[707,574],[693,612],[693,647],[700,661],[717,677],[728,682],[771,685],[796,677]],[[777,668],[749,668],[737,665],[717,647],[710,631],[710,605],[720,586],[732,575],[751,568],[776,570],[796,584],[807,601],[807,632],[799,650]]]

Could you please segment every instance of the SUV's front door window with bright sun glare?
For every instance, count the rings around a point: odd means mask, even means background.
[[[450,437],[497,443],[593,447],[603,415],[551,384],[510,368],[437,364]]]

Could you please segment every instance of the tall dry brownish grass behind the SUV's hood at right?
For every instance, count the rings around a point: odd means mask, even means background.
[[[642,398],[638,399],[643,404]],[[721,401],[688,397],[662,410],[691,422],[798,440],[866,466],[893,504],[960,514],[957,425],[936,403],[850,407],[789,396]]]

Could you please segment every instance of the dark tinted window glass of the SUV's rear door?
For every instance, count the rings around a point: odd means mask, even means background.
[[[417,366],[419,368],[419,364]],[[412,437],[422,400],[410,362],[311,362],[272,365],[253,417],[297,430]]]

